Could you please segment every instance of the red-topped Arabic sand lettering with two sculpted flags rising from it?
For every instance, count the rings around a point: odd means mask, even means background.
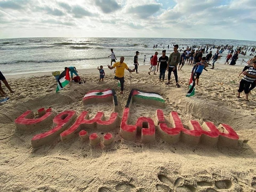
[[[83,103],[88,104],[92,101],[97,102],[100,100],[98,96],[90,95],[92,93],[95,94],[95,92],[99,92],[99,90],[87,93]],[[100,92],[105,92],[100,102],[104,102],[104,100],[106,102],[114,100],[114,106],[117,106],[117,104],[115,104],[117,99],[114,99],[113,95],[115,92],[112,89],[101,90]],[[164,107],[164,100],[160,94],[132,89],[126,107],[124,108],[121,124],[117,112],[112,112],[108,120],[105,120],[104,112],[97,112],[96,116],[90,119],[87,111],[82,111],[79,117],[77,117],[76,111],[64,111],[54,117],[52,109],[50,108],[47,110],[44,108],[38,109],[37,118],[34,118],[32,111],[26,111],[15,120],[15,124],[17,129],[20,130],[35,130],[49,126],[53,121],[55,125],[51,130],[37,134],[31,139],[33,148],[50,144],[52,140],[56,139],[59,135],[61,141],[67,142],[75,137],[77,132],[79,132],[79,137],[82,142],[86,142],[89,139],[92,146],[99,145],[101,140],[99,135],[93,132],[89,136],[88,132],[85,130],[107,132],[103,137],[103,144],[110,145],[114,138],[109,131],[115,130],[119,124],[121,136],[125,140],[135,140],[136,135],[139,133],[141,134],[141,141],[143,143],[152,143],[155,141],[155,131],[157,130],[161,139],[169,143],[182,141],[190,145],[202,143],[204,145],[219,144],[227,147],[237,146],[239,136],[229,125],[220,124],[217,128],[212,122],[204,122],[203,125],[200,126],[197,121],[190,120],[188,129],[186,129],[178,113],[175,111],[172,111],[169,115],[172,127],[167,126],[168,122],[166,122],[166,119],[168,119],[168,117],[164,118],[164,113],[161,109],[156,110],[155,122],[149,117],[139,117],[135,125],[129,125],[127,124],[130,113],[129,106],[131,106],[134,101]],[[72,124],[72,122],[74,123]]]

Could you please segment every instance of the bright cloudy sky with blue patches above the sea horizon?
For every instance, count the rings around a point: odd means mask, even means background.
[[[256,0],[0,0],[0,38],[166,37],[256,41]]]

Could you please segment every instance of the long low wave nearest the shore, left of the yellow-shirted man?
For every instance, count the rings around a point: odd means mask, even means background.
[[[94,58],[77,58],[77,59],[63,59],[63,60],[16,60],[11,62],[0,62],[2,65],[6,64],[19,64],[19,63],[54,63],[54,62],[65,62],[65,61],[83,61],[83,60],[97,60],[97,59],[106,59],[108,57],[94,57]]]

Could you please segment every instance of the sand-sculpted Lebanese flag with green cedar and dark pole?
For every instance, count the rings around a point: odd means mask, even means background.
[[[93,90],[93,91],[87,92],[83,98],[84,105],[97,103],[97,102],[105,103],[109,101],[113,101],[114,111],[117,112],[118,103],[117,103],[115,89]]]

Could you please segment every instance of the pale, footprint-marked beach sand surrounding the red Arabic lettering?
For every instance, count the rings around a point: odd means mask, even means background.
[[[129,72],[125,72],[123,95],[113,79],[114,69],[108,68],[104,68],[104,82],[98,82],[97,67],[78,70],[86,82],[73,82],[58,93],[51,73],[5,76],[15,93],[8,93],[10,99],[0,103],[1,191],[256,191],[256,92],[252,90],[248,102],[244,93],[236,98],[243,66],[217,61],[214,70],[203,71],[193,97],[186,97],[191,66],[185,64],[178,71],[180,88],[175,86],[173,74],[171,84],[166,85],[159,82],[158,72],[149,76],[148,68],[140,65],[139,74],[132,73],[132,84]],[[167,82],[167,73],[165,79]],[[239,135],[238,146],[193,146],[181,141],[170,144],[157,131],[156,141],[143,144],[140,136],[135,141],[124,140],[120,126],[116,126],[106,131],[86,130],[98,133],[101,143],[103,135],[110,132],[114,141],[109,146],[91,146],[89,141],[81,142],[76,133],[66,143],[57,137],[50,145],[32,148],[31,138],[54,125],[29,132],[16,129],[14,120],[18,116],[27,110],[37,116],[39,108],[52,108],[54,115],[65,110],[75,110],[79,115],[86,110],[91,118],[103,111],[108,118],[113,112],[112,103],[83,105],[87,92],[108,88],[116,90],[120,118],[131,88],[157,92],[165,100],[161,109],[166,118],[171,111],[178,112],[185,128],[189,120],[201,125],[209,121],[217,127],[228,124]],[[3,89],[8,92],[4,85]],[[135,102],[129,124],[135,124],[140,116],[155,120],[157,109]]]

